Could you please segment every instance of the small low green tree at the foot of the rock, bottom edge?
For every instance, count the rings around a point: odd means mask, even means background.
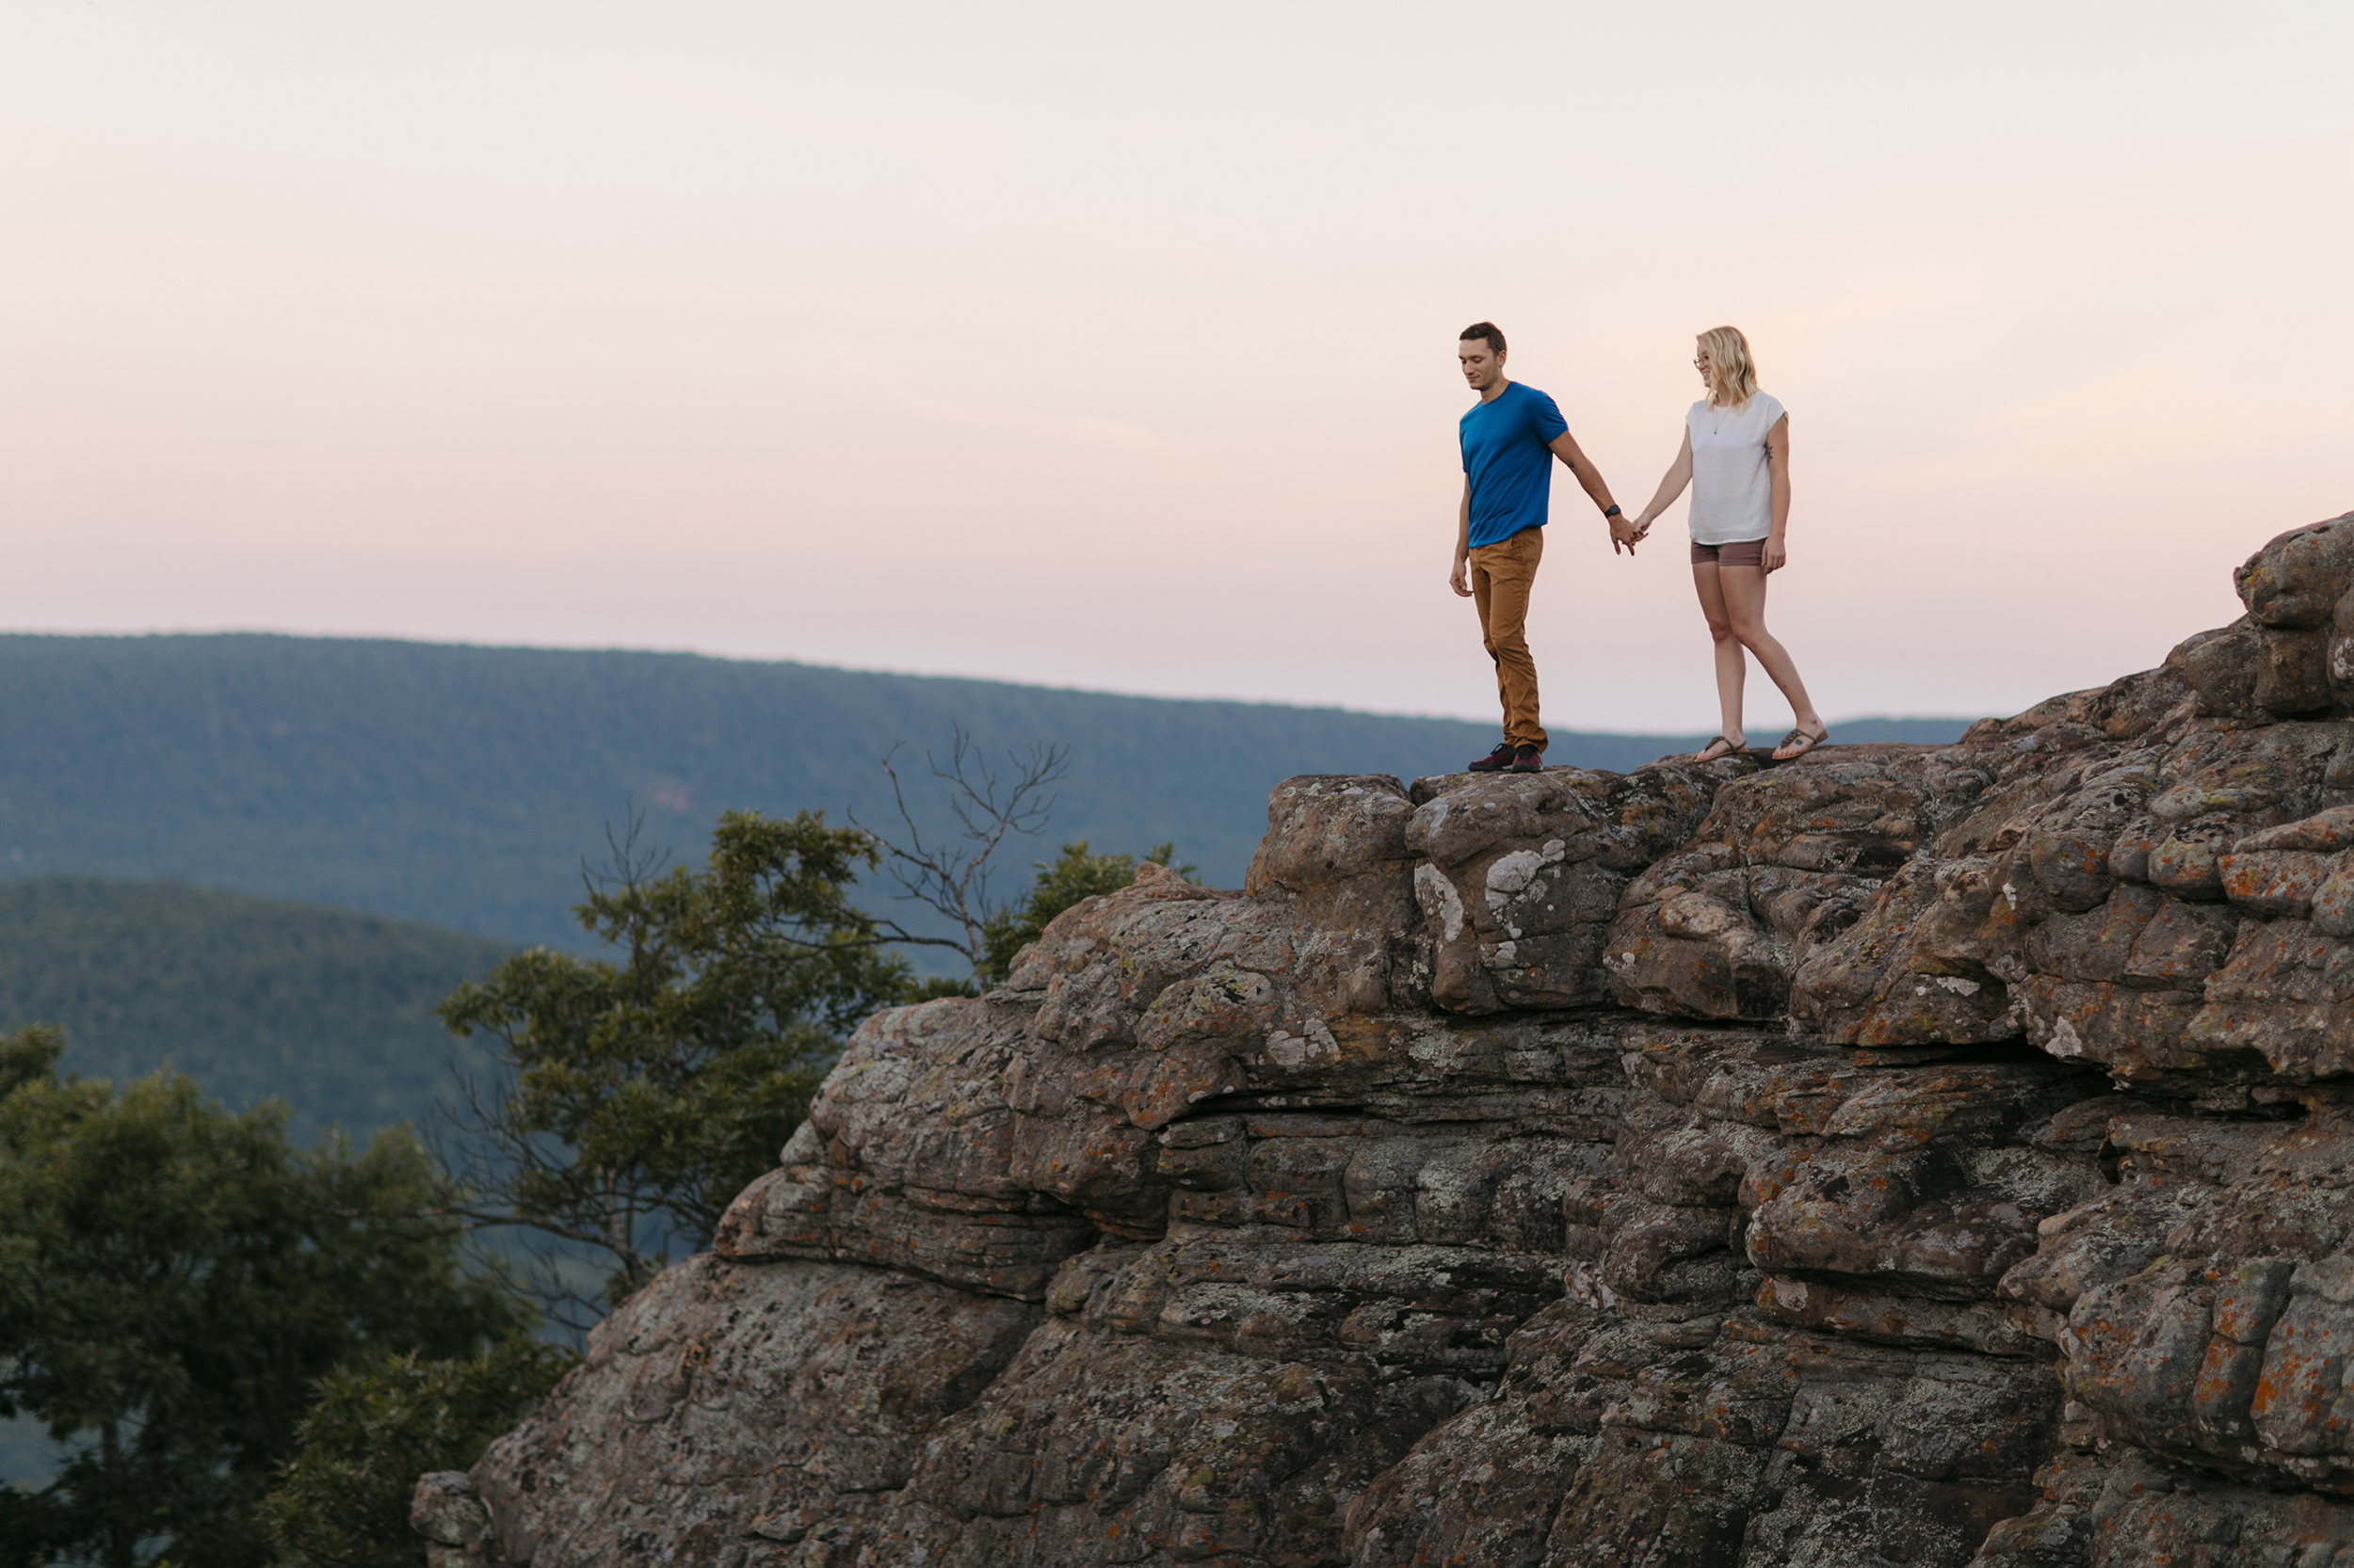
[[[285,1568],[417,1568],[417,1476],[471,1469],[530,1415],[577,1356],[527,1337],[464,1361],[374,1354],[327,1373],[301,1417],[294,1457],[261,1502]]]

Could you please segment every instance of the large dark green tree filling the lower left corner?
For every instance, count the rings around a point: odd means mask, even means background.
[[[0,1561],[245,1568],[315,1377],[471,1356],[527,1314],[450,1227],[372,1217],[452,1203],[407,1132],[301,1151],[282,1107],[59,1078],[61,1048],[0,1036],[0,1415],[66,1450],[47,1488],[0,1490]]]

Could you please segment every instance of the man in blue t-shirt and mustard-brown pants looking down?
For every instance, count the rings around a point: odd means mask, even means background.
[[[1462,419],[1464,501],[1448,586],[1478,605],[1481,640],[1495,659],[1495,690],[1504,702],[1504,742],[1471,763],[1471,772],[1537,772],[1544,725],[1537,723],[1537,662],[1528,657],[1525,626],[1528,591],[1544,556],[1554,459],[1565,461],[1601,506],[1612,553],[1624,546],[1631,556],[1636,532],[1577,450],[1561,407],[1535,386],[1504,379],[1504,334],[1495,323],[1464,327],[1455,351],[1478,403]]]

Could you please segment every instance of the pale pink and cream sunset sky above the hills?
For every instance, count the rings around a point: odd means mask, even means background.
[[[1822,711],[2008,713],[2354,509],[2349,198],[2342,0],[0,0],[0,629],[1492,718],[1457,332],[1631,511],[1733,323]],[[1530,640],[1714,727],[1683,506]]]

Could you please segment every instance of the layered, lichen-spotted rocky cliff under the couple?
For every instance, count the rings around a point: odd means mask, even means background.
[[[2354,1563],[2354,513],[1954,746],[1299,777],[869,1019],[440,1566]]]

